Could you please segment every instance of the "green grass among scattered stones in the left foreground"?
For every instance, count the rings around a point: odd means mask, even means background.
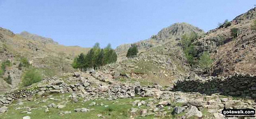
[[[87,102],[77,102],[72,103],[69,101],[70,94],[52,94],[54,95],[53,98],[58,100],[51,100],[47,97],[41,98],[40,96],[34,96],[32,101],[23,101],[24,105],[14,105],[18,102],[14,102],[12,105],[8,106],[9,110],[7,113],[0,114],[0,117],[3,119],[17,119],[17,118],[23,118],[24,116],[30,116],[31,118],[40,118],[40,119],[69,119],[69,118],[75,118],[75,119],[82,119],[82,118],[89,118],[94,119],[98,118],[97,114],[102,114],[105,119],[126,119],[130,117],[130,109],[138,108],[137,106],[133,106],[131,102],[135,100],[147,100],[148,98],[126,98],[126,99],[118,99],[118,100],[92,100]],[[41,102],[36,104],[37,102],[40,102],[42,100],[47,100],[45,102]],[[82,100],[82,99],[81,99]],[[67,102],[67,104],[64,104]],[[96,105],[89,106],[90,103],[96,102]],[[51,103],[58,104],[64,104],[66,107],[64,108],[49,108],[49,112],[45,113],[42,106],[47,106]],[[100,104],[103,103],[104,105],[101,106]],[[108,105],[108,107],[105,107],[105,105]],[[27,111],[26,109],[20,109],[15,110],[14,108],[17,107],[30,107],[30,108],[38,108],[33,109],[31,112],[32,114],[24,114],[21,113],[22,111]],[[91,109],[89,112],[86,113],[80,113],[75,112],[75,108],[89,108]],[[141,106],[141,109],[147,108],[146,106]],[[95,110],[92,110],[95,109]],[[71,114],[64,114],[63,116],[59,115],[58,113],[60,111],[71,111]],[[139,110],[137,111],[136,116],[139,115]],[[144,119],[144,117],[142,117]],[[148,117],[145,117],[145,119]],[[150,117],[149,117],[150,118]]]

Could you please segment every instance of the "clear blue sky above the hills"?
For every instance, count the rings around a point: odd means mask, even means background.
[[[0,0],[0,26],[59,44],[113,48],[150,38],[175,22],[207,32],[254,7],[255,0]]]

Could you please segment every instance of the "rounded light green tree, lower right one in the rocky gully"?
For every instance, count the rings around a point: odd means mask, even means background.
[[[199,60],[200,67],[208,71],[211,63],[212,60],[210,57],[210,53],[208,51],[204,51]]]

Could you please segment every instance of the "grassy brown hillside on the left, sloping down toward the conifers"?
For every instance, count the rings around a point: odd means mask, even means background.
[[[23,70],[19,70],[21,58],[27,58],[29,63],[42,72],[43,76],[54,76],[73,70],[71,63],[73,57],[89,48],[78,46],[58,45],[51,38],[22,32],[14,34],[8,29],[0,28],[0,63],[9,60],[11,66],[6,68],[5,74],[0,78],[0,90],[14,89],[21,82]],[[3,81],[10,76],[12,85]]]

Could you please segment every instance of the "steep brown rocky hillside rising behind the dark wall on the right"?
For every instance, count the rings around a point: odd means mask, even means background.
[[[194,42],[199,53],[210,51],[214,60],[212,76],[256,73],[256,32],[251,28],[256,17],[255,9],[237,16],[230,26],[213,29]],[[237,37],[231,34],[232,29],[237,29]]]

